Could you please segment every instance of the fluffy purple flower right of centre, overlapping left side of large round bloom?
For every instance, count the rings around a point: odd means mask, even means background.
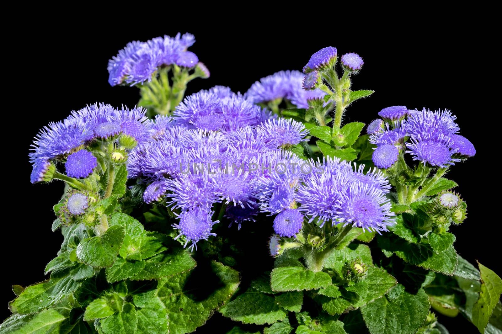
[[[313,159],[312,165],[316,165]],[[352,168],[346,162],[337,158],[327,157],[322,161],[324,169],[315,169],[306,176],[298,186],[297,202],[301,203],[299,210],[309,216],[309,223],[318,219],[320,226],[335,218],[339,201],[348,191],[349,184],[354,180]]]

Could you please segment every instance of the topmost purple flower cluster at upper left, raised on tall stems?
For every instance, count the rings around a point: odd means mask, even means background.
[[[195,67],[199,59],[193,52],[187,51],[194,43],[194,36],[188,33],[156,37],[147,42],[130,42],[108,61],[108,82],[112,86],[123,82],[134,85],[151,81],[162,66]]]

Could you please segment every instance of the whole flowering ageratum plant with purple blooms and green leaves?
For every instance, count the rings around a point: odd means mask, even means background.
[[[229,333],[447,332],[434,312],[501,330],[502,281],[453,247],[467,205],[444,176],[475,149],[450,111],[342,124],[373,92],[351,90],[363,60],[333,47],[243,95],[184,97],[210,75],[194,42],[128,44],[109,83],[139,106],[37,135],[31,182],[65,182],[64,241],[47,281],[13,286],[0,332],[188,333],[215,312]]]

